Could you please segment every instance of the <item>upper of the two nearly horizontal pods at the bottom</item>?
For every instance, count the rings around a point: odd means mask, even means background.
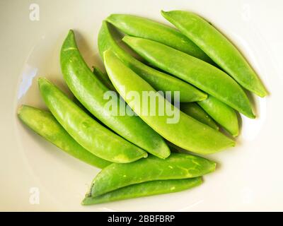
[[[183,153],[172,153],[166,160],[150,155],[129,164],[111,164],[93,179],[86,197],[97,197],[142,182],[200,177],[214,172],[215,167],[215,162]]]

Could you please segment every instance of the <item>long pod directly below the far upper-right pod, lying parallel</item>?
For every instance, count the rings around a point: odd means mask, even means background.
[[[246,93],[224,71],[159,42],[129,36],[123,41],[151,64],[195,85],[247,117],[255,118]]]

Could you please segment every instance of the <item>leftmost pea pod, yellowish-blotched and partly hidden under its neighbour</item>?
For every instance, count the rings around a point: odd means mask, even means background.
[[[30,129],[47,139],[64,152],[98,168],[104,168],[112,162],[93,155],[77,143],[59,124],[50,112],[22,105],[18,109],[18,117]]]

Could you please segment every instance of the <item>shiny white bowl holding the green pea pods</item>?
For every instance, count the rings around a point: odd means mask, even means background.
[[[199,211],[283,210],[283,15],[280,1],[2,1],[0,210]],[[39,20],[32,13],[39,6]],[[132,13],[163,23],[161,9],[199,13],[233,41],[270,95],[253,97],[258,119],[243,117],[236,148],[209,156],[219,162],[204,184],[188,191],[81,206],[98,169],[63,153],[16,117],[22,103],[45,107],[37,77],[66,88],[59,48],[70,28],[89,66],[103,66],[97,49],[102,20]],[[32,14],[30,14],[32,13]]]

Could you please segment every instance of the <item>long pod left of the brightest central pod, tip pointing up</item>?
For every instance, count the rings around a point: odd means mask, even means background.
[[[139,148],[162,158],[170,155],[170,150],[163,138],[139,117],[127,114],[129,106],[122,106],[115,93],[110,93],[112,100],[105,98],[105,93],[110,90],[96,76],[93,76],[91,69],[86,65],[76,46],[72,30],[62,44],[60,61],[64,80],[71,92],[91,114]],[[117,112],[107,107],[110,101],[117,104]],[[120,112],[121,107],[126,108],[125,112]]]

